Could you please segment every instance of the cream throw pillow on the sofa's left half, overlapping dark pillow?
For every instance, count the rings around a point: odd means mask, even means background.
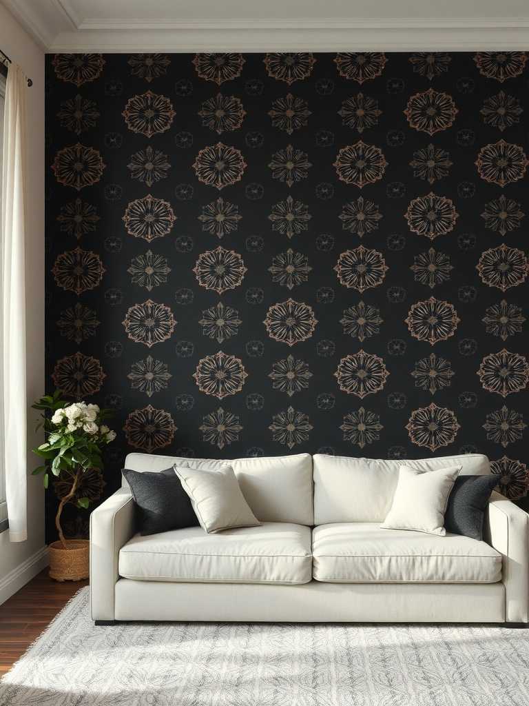
[[[208,534],[261,524],[245,501],[230,465],[215,470],[173,468],[188,493],[197,520]]]

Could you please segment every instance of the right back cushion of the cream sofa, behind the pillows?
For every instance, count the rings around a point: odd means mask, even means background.
[[[372,458],[312,457],[314,464],[314,524],[330,522],[382,522],[389,512],[403,461]],[[406,460],[406,465],[434,471],[461,465],[461,475],[490,473],[481,454]]]

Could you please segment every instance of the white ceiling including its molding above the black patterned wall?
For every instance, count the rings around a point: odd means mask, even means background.
[[[529,0],[0,0],[47,52],[529,49]]]

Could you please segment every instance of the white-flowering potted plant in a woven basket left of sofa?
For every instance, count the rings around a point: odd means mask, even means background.
[[[111,412],[86,402],[67,402],[61,399],[61,390],[44,395],[33,409],[42,412],[46,441],[33,453],[44,459],[33,474],[44,474],[44,488],[48,487],[49,474],[62,485],[55,526],[59,541],[49,545],[49,575],[58,581],[78,581],[88,578],[88,546],[86,539],[64,539],[61,515],[66,503],[87,508],[90,498],[83,496],[83,478],[102,468],[102,448],[116,438],[116,432],[103,424]],[[81,492],[80,492],[81,491]]]

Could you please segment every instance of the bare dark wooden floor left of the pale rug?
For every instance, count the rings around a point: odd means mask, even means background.
[[[11,669],[73,594],[87,583],[58,583],[45,570],[0,606],[0,676]]]

